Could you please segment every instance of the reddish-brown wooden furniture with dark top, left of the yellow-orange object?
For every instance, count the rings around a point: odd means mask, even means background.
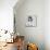
[[[14,42],[16,42],[17,50],[23,50],[24,48],[24,36],[16,36],[14,39]]]

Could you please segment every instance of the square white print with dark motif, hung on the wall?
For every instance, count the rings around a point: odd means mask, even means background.
[[[36,26],[37,26],[37,17],[29,15],[26,21],[26,27],[36,27]]]

